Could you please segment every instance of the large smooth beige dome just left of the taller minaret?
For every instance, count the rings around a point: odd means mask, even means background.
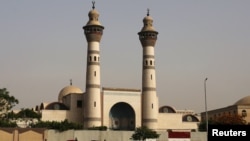
[[[58,101],[59,101],[59,102],[62,102],[62,98],[63,98],[64,96],[66,96],[66,95],[68,95],[68,94],[72,94],[72,93],[74,93],[74,94],[82,94],[83,92],[82,92],[82,90],[81,90],[80,88],[78,88],[78,87],[75,87],[75,86],[72,86],[72,85],[66,86],[66,87],[64,87],[64,88],[60,91],[60,93],[59,93],[59,95],[58,95]]]

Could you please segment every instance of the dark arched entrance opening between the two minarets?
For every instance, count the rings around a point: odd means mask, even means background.
[[[109,128],[112,130],[134,130],[135,111],[125,102],[119,102],[112,106],[109,112]]]

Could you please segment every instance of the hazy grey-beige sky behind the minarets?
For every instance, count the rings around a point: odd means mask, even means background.
[[[249,0],[95,0],[105,27],[102,87],[141,89],[138,32],[150,9],[159,105],[213,110],[250,95]],[[0,1],[0,88],[15,109],[57,101],[70,84],[85,91],[91,0]],[[205,78],[208,78],[205,82]]]

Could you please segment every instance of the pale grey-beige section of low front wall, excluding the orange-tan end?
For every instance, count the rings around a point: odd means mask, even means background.
[[[68,130],[58,132],[48,130],[47,141],[132,141],[130,138],[134,131],[95,131],[95,130]],[[168,141],[168,133],[158,132],[157,141]],[[206,132],[191,132],[190,141],[207,141]]]

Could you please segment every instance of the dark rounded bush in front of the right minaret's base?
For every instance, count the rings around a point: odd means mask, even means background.
[[[156,139],[159,138],[160,134],[156,131],[151,130],[145,126],[136,128],[134,134],[132,134],[131,139],[133,140],[145,140],[145,139]]]

